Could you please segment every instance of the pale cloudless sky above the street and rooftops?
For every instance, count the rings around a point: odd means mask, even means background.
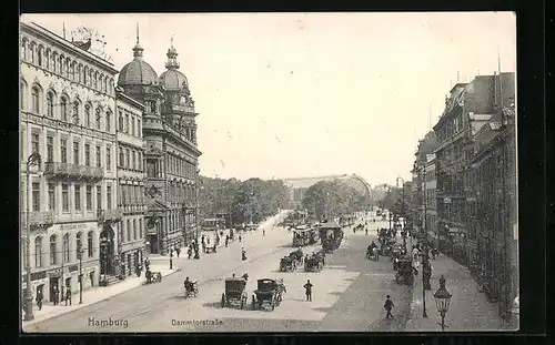
[[[104,35],[120,70],[160,75],[172,43],[198,122],[201,174],[411,180],[417,141],[457,82],[516,72],[513,12],[23,14],[60,35]],[[100,48],[98,43],[97,48]],[[500,57],[500,59],[498,59]],[[458,79],[457,79],[458,77]]]

